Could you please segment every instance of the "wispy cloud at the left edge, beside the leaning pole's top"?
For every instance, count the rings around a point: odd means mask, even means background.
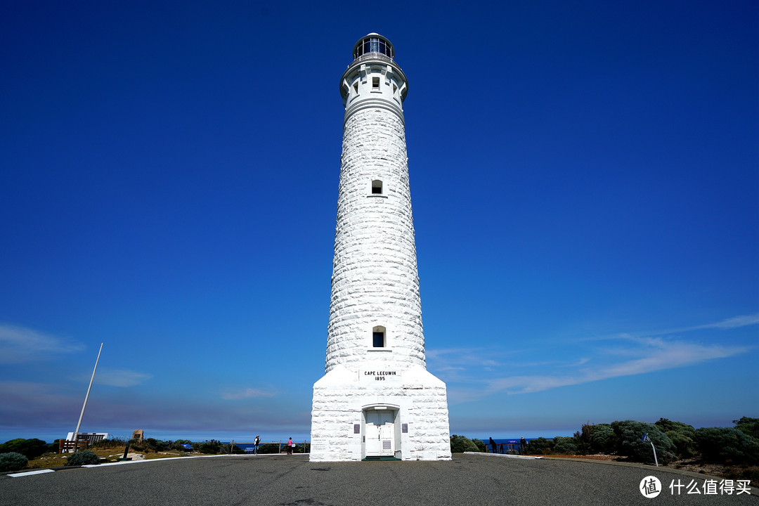
[[[45,335],[31,328],[0,323],[0,363],[50,360],[83,349],[84,345],[76,341]]]

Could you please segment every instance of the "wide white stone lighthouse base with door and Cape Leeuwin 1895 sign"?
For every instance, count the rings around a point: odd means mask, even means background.
[[[313,385],[310,460],[451,458],[446,384],[421,366],[337,366]]]

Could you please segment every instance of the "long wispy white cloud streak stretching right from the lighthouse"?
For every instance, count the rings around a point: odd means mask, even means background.
[[[749,346],[728,345],[722,341],[691,341],[682,335],[701,329],[723,331],[759,323],[759,314],[735,316],[700,325],[649,332],[647,335],[622,332],[572,341],[551,350],[496,350],[486,348],[449,348],[427,354],[430,369],[449,382],[449,396],[462,401],[505,392],[525,394],[568,385],[597,382],[621,376],[675,369],[734,357],[751,350]],[[551,360],[551,353],[557,360]],[[515,357],[548,357],[549,360],[517,360]],[[538,374],[503,372],[537,370]]]

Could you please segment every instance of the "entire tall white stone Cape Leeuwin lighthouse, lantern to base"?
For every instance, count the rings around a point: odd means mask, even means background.
[[[447,460],[446,384],[427,372],[411,217],[406,76],[370,33],[340,77],[345,105],[327,328],[310,460]]]

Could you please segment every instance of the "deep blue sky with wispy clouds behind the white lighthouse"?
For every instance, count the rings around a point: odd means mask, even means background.
[[[387,36],[451,431],[759,416],[759,5],[0,5],[0,440],[307,437]]]

